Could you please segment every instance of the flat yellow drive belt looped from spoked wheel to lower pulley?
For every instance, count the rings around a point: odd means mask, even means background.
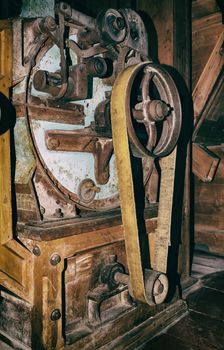
[[[152,304],[147,290],[145,273],[141,262],[141,251],[136,218],[136,203],[131,171],[129,139],[126,115],[128,88],[130,88],[133,74],[140,65],[130,66],[117,77],[111,96],[111,122],[114,153],[116,159],[122,222],[124,227],[125,247],[129,269],[129,282],[135,299]],[[168,246],[170,244],[170,227],[173,202],[174,174],[176,150],[161,160],[161,188],[158,211],[158,227],[155,237],[155,259],[153,269],[166,273]],[[166,278],[166,276],[164,276]],[[159,303],[159,302],[158,302]]]

